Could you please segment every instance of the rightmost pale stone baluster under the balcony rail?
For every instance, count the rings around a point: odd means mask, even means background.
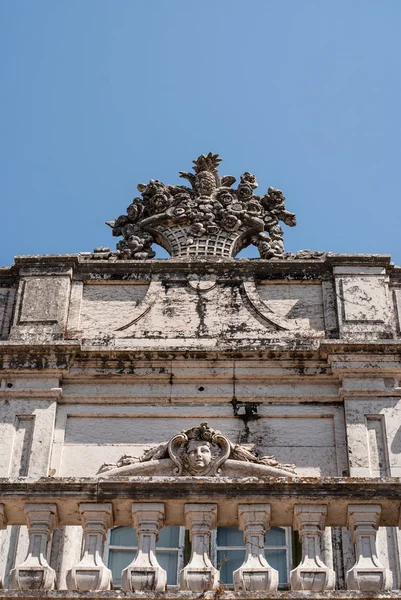
[[[348,528],[355,544],[356,563],[347,572],[348,590],[384,592],[391,590],[393,576],[377,556],[376,536],[380,522],[379,504],[348,506]]]

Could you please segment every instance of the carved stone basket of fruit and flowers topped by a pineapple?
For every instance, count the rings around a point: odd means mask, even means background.
[[[219,177],[218,154],[202,154],[194,173],[180,172],[191,187],[165,185],[151,179],[139,184],[142,197],[134,198],[126,215],[107,222],[114,236],[122,236],[113,253],[121,259],[153,258],[152,244],[172,257],[231,258],[254,244],[262,258],[280,258],[284,252],[282,221],[293,227],[296,217],[284,206],[284,195],[269,187],[262,196],[255,175],[245,172],[236,189],[235,177]]]

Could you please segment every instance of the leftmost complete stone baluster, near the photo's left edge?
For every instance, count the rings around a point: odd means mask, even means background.
[[[47,546],[58,526],[55,504],[25,504],[29,546],[25,561],[10,573],[11,588],[16,590],[52,590],[56,573],[47,562]]]

